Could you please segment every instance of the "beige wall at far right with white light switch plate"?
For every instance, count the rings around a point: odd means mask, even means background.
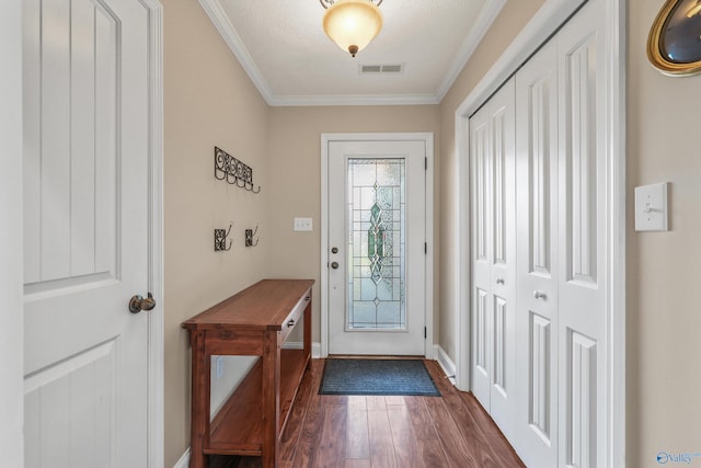
[[[647,61],[663,3],[628,7],[627,449],[643,468],[659,466],[659,450],[701,453],[701,76]],[[671,230],[634,232],[633,187],[656,182],[671,183]]]

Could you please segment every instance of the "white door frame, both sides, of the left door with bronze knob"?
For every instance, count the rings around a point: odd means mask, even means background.
[[[158,0],[140,0],[149,11],[149,290],[158,307],[148,312],[148,466],[163,467],[163,21]],[[14,253],[0,265],[0,318],[3,329],[12,333],[0,340],[0,408],[19,409],[15,414],[2,413],[0,453],[3,463],[22,467],[23,445],[23,259],[22,252],[22,0],[2,2],[0,10],[0,64],[8,73],[0,76],[0,199],[12,201],[11,209],[0,206],[0,243]],[[12,72],[14,71],[14,72]],[[5,135],[7,133],[7,135]],[[5,138],[7,136],[7,138]],[[5,161],[7,160],[7,161]],[[7,290],[5,290],[7,289]],[[125,308],[126,313],[126,308]],[[11,350],[11,352],[10,352]]]

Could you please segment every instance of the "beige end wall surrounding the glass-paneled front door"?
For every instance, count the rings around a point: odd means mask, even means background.
[[[432,132],[437,138],[438,106],[273,107],[269,128],[271,269],[279,277],[317,279],[312,341],[319,342],[321,134]],[[313,218],[313,231],[292,231],[295,217]]]

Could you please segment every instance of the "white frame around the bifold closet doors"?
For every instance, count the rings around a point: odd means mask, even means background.
[[[470,115],[530,57],[579,8],[585,0],[549,0],[528,22],[504,54],[496,60],[455,113],[456,160],[453,184],[458,199],[453,215],[458,231],[452,250],[458,252],[455,265],[456,284],[470,284]],[[609,467],[625,466],[625,3],[627,0],[606,2],[606,70],[611,125],[605,136],[608,148],[609,196],[607,254],[609,269],[608,330],[610,354],[606,356],[609,375],[606,401],[608,432],[606,447]],[[449,247],[447,247],[449,248]],[[461,390],[470,389],[470,293],[457,287],[453,296],[456,311],[456,381]],[[444,308],[449,309],[449,308]]]

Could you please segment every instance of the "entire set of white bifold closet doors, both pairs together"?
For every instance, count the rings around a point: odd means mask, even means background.
[[[607,466],[604,1],[469,122],[472,390],[529,467]]]

